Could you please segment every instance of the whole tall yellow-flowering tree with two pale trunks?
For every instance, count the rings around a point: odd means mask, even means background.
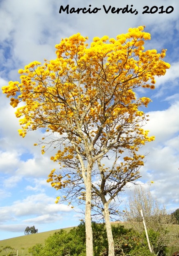
[[[94,37],[90,46],[87,39],[80,33],[62,39],[55,60],[30,63],[19,70],[21,82],[10,81],[2,90],[13,107],[22,102],[16,110],[21,136],[38,128],[54,135],[43,138],[42,154],[50,145],[57,148],[51,159],[60,164],[48,182],[65,192],[57,201],[85,201],[87,256],[93,255],[94,205],[102,205],[108,255],[114,256],[109,205],[127,182],[140,177],[144,156],[138,149],[154,140],[142,128],[147,116],[141,107],[150,99],[138,98],[135,91],[154,89],[155,76],[164,75],[170,65],[162,60],[165,50],[144,51],[150,34],[142,26],[116,39]]]

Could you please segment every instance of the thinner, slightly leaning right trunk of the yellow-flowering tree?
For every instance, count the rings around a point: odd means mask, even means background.
[[[112,236],[112,228],[110,224],[110,215],[109,215],[109,205],[108,203],[104,203],[104,219],[106,224],[106,233],[108,238],[108,256],[115,256],[115,246],[114,246],[114,240]]]

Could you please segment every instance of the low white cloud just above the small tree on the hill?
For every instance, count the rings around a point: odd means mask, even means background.
[[[55,204],[55,198],[51,198],[46,194],[34,194],[27,196],[23,200],[14,201],[12,205],[0,207],[0,222],[5,223],[20,220],[20,217],[25,218],[23,222],[33,220],[33,223],[54,222],[58,218],[62,218],[63,214],[68,214],[72,211],[71,207],[63,204]],[[33,216],[29,218],[30,216]]]

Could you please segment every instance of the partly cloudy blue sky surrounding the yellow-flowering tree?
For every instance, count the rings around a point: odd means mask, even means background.
[[[59,14],[64,7],[112,7],[133,5],[138,14]],[[170,14],[142,14],[143,7],[174,7]],[[150,9],[149,8],[149,9]],[[55,44],[61,38],[77,32],[93,37],[116,37],[131,27],[145,25],[151,40],[145,48],[159,52],[167,48],[165,61],[171,68],[157,78],[155,90],[142,90],[141,95],[153,102],[145,109],[150,121],[146,129],[156,136],[142,151],[149,153],[141,168],[141,185],[151,184],[151,192],[164,204],[168,212],[179,208],[179,1],[122,1],[122,0],[1,0],[0,1],[0,87],[8,81],[19,80],[18,69],[37,60],[55,58]],[[57,191],[46,182],[55,168],[50,161],[52,152],[41,155],[34,147],[42,131],[18,135],[18,119],[9,100],[0,92],[0,240],[21,236],[27,226],[39,232],[79,224],[78,213],[67,205],[56,205]],[[124,194],[124,202],[131,195],[133,185]],[[121,205],[123,209],[124,203]],[[76,209],[78,210],[78,209]]]

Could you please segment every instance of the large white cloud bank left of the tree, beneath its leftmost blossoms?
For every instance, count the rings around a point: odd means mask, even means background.
[[[0,80],[3,84],[4,80]],[[50,160],[55,154],[52,149],[41,155],[41,148],[34,147],[44,134],[40,130],[29,132],[25,138],[18,135],[18,119],[14,115],[14,109],[9,105],[5,95],[0,101],[0,172],[16,173],[18,176],[47,177],[53,168],[59,168]],[[29,159],[24,159],[23,155]],[[28,156],[29,155],[29,156]]]

